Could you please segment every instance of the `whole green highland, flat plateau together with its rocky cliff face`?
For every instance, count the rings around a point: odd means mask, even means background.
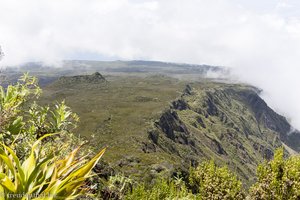
[[[90,141],[88,148],[108,146],[104,160],[133,178],[184,174],[214,159],[248,185],[276,147],[299,150],[298,134],[288,134],[289,123],[253,87],[162,75],[98,78],[61,78],[40,101],[65,99],[81,119],[76,133]]]

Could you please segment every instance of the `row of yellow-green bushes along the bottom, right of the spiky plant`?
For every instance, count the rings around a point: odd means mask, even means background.
[[[258,180],[249,192],[227,167],[217,167],[213,161],[192,168],[189,181],[158,179],[154,185],[139,185],[125,199],[299,199],[300,156],[283,158],[283,149],[257,169]]]

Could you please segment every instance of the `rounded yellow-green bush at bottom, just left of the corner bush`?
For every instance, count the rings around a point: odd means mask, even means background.
[[[242,183],[227,167],[217,167],[213,161],[191,169],[190,186],[199,199],[244,199]]]

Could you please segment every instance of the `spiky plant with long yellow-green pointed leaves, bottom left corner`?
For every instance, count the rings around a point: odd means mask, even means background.
[[[0,148],[0,199],[75,199],[82,195],[84,181],[105,152],[92,159],[76,159],[79,148],[63,159],[45,154],[41,140],[31,147],[29,156],[21,163],[14,150],[5,144]]]

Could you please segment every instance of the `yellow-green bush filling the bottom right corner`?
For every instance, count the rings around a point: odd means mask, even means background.
[[[251,199],[300,199],[300,157],[284,159],[278,149],[274,159],[257,168],[258,181],[250,189]]]

